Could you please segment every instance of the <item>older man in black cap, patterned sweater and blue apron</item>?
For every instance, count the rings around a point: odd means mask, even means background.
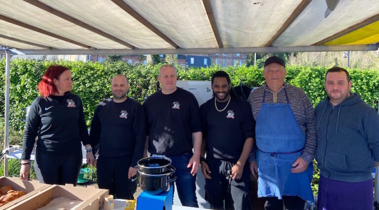
[[[266,84],[249,96],[256,120],[256,149],[250,170],[258,177],[258,196],[265,210],[303,210],[313,201],[312,180],[317,136],[313,105],[304,91],[284,83],[284,61],[268,58],[263,70]],[[257,168],[258,166],[258,168]]]

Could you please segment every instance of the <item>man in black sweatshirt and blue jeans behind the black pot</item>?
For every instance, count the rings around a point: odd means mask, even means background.
[[[143,105],[148,131],[144,155],[149,148],[152,156],[170,158],[176,168],[174,175],[182,205],[198,207],[195,181],[202,138],[199,105],[193,94],[176,87],[176,79],[173,66],[162,66],[158,75],[162,89]]]

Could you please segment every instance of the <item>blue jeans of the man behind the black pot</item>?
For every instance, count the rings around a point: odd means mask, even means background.
[[[196,198],[196,175],[190,174],[192,167],[187,168],[192,152],[181,155],[167,156],[171,159],[171,165],[176,168],[174,176],[177,176],[176,186],[180,202],[186,207],[199,207]]]

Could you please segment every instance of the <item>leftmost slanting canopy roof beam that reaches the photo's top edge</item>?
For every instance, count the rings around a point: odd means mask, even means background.
[[[107,33],[103,32],[103,31],[101,31],[99,29],[96,29],[95,27],[92,27],[92,26],[90,26],[90,25],[88,25],[88,24],[86,24],[86,23],[84,23],[84,22],[82,22],[82,21],[80,21],[80,20],[78,20],[76,18],[73,18],[70,15],[67,15],[67,14],[65,14],[65,13],[63,13],[63,12],[57,10],[57,9],[54,9],[54,8],[52,8],[52,7],[44,4],[44,3],[41,3],[38,0],[24,0],[24,1],[30,3],[30,4],[32,4],[34,6],[37,6],[38,8],[43,9],[46,12],[49,12],[49,13],[51,13],[51,14],[53,14],[55,16],[58,16],[58,17],[60,17],[60,18],[62,18],[64,20],[67,20],[67,21],[69,21],[71,23],[74,23],[75,25],[80,26],[80,27],[82,27],[82,28],[84,28],[84,29],[86,29],[88,31],[91,31],[91,32],[96,33],[96,34],[101,35],[101,36],[104,36],[104,37],[106,37],[108,39],[111,39],[111,40],[113,40],[113,41],[115,41],[115,42],[117,42],[119,44],[122,44],[122,45],[124,45],[126,47],[129,47],[131,49],[135,49],[136,48],[135,46],[127,43],[126,41],[123,41],[123,40],[121,40],[121,39],[119,39],[117,37],[114,37],[113,35],[107,34]]]

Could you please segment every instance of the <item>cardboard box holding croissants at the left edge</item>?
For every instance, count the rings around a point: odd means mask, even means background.
[[[39,183],[38,180],[33,180],[33,181],[26,181],[26,180],[21,180],[19,177],[5,177],[1,176],[0,177],[0,187],[10,185],[13,187],[14,190],[23,190],[25,192],[24,196],[21,196],[20,198],[17,198],[14,201],[11,201],[3,206],[0,207],[0,210],[5,210],[22,200],[29,198],[32,195],[37,194],[39,191],[51,186],[49,184],[42,184]]]

